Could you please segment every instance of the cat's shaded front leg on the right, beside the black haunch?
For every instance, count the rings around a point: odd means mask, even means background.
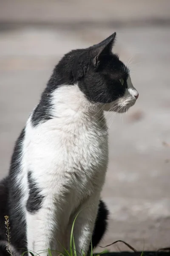
[[[91,236],[94,230],[94,224],[99,206],[100,193],[94,193],[86,199],[77,210],[70,222],[70,228],[74,218],[77,215],[74,224],[74,241],[76,245],[77,255],[87,255]]]

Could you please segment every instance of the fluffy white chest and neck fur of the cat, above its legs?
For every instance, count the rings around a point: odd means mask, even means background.
[[[65,186],[75,208],[102,189],[108,164],[107,127],[102,107],[89,103],[77,85],[57,89],[52,105],[54,118],[35,128],[28,119],[24,169],[32,171],[44,195],[49,189],[53,195],[62,194]]]

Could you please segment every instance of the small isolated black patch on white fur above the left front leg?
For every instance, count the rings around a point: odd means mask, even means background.
[[[42,205],[43,196],[38,188],[35,180],[31,176],[31,172],[28,172],[28,186],[29,186],[29,198],[27,200],[26,209],[30,213],[37,212]]]

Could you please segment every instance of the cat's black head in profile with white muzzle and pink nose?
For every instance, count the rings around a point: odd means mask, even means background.
[[[105,104],[105,110],[125,112],[139,94],[133,87],[129,69],[112,52],[116,33],[87,49],[66,54],[57,73],[71,84],[77,83],[90,102]]]

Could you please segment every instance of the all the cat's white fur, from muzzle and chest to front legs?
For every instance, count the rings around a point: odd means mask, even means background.
[[[121,104],[132,104],[135,98],[136,91],[128,81]],[[103,105],[88,102],[77,85],[55,90],[51,103],[54,117],[34,128],[30,116],[23,143],[18,184],[23,190],[28,250],[47,256],[40,250],[69,249],[71,226],[79,213],[74,240],[77,253],[87,253],[108,165]],[[34,214],[26,211],[28,171],[44,196],[42,207]]]

